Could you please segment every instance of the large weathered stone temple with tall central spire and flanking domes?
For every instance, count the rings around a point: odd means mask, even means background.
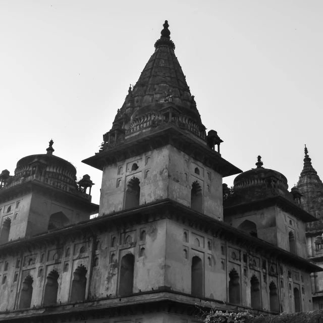
[[[2,172],[0,321],[194,323],[202,307],[313,309],[311,275],[323,269],[305,241],[316,213],[260,156],[243,173],[222,156],[163,26],[99,151],[83,160],[102,171],[99,205],[90,177],[77,182],[52,141],[14,176]]]

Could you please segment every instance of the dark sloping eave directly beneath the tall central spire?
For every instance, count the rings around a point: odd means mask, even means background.
[[[222,158],[219,152],[212,150],[206,143],[195,139],[194,135],[189,135],[185,130],[179,129],[172,123],[139,132],[138,135],[125,139],[112,149],[101,151],[82,160],[82,163],[102,171],[106,166],[168,144],[197,159],[223,177],[242,172]]]

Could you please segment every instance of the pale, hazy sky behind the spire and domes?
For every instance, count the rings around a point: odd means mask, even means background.
[[[306,144],[323,177],[322,15],[321,0],[2,0],[0,171],[13,175],[53,139],[54,154],[91,176],[98,203],[102,172],[81,160],[99,150],[168,20],[222,157],[247,171],[260,154],[292,188]]]

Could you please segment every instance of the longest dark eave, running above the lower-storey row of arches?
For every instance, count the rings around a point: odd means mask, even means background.
[[[188,226],[204,231],[214,237],[231,241],[233,244],[253,250],[255,253],[262,252],[269,257],[289,261],[296,267],[303,267],[308,272],[321,272],[323,268],[316,264],[294,255],[286,250],[283,250],[271,243],[253,237],[243,231],[240,231],[232,226],[225,224],[222,221],[216,220],[206,214],[197,212],[188,206],[178,203],[171,199],[163,199],[155,202],[147,203],[119,212],[106,214],[91,220],[82,221],[76,224],[71,224],[63,228],[53,229],[30,238],[23,238],[0,245],[0,253],[5,256],[18,252],[21,248],[32,249],[38,248],[44,242],[46,245],[59,243],[60,239],[66,241],[69,237],[85,238],[87,235],[98,234],[111,230],[112,226],[122,229],[136,224],[147,222],[148,218],[151,221],[156,221],[163,218],[168,218],[174,221],[183,221]],[[102,231],[103,230],[103,231]],[[104,231],[105,230],[105,231]],[[47,241],[47,242],[46,242]]]

